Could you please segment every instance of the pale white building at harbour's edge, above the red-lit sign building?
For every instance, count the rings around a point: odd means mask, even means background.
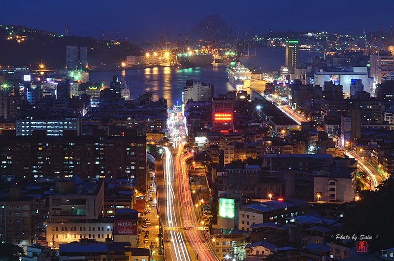
[[[209,102],[213,97],[213,85],[188,80],[183,87],[183,102],[189,100]]]

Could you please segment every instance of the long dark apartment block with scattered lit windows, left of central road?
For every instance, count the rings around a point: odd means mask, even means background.
[[[26,123],[26,122],[25,122]],[[16,136],[15,130],[3,130],[0,136],[0,175],[34,181],[40,177],[131,178],[138,191],[146,190],[146,136],[77,136],[75,130],[63,136],[46,131]]]

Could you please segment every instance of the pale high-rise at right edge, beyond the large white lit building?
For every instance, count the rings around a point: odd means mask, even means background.
[[[370,76],[374,82],[382,83],[382,78],[394,72],[394,56],[390,51],[381,51],[370,55]]]

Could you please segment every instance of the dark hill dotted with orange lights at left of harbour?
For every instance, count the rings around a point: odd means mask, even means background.
[[[118,65],[128,55],[144,53],[128,41],[99,41],[91,37],[64,36],[23,26],[1,25],[0,65],[45,64],[60,69],[66,65],[67,45],[87,47],[89,65]]]

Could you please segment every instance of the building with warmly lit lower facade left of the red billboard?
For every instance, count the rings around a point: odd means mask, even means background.
[[[83,182],[78,176],[56,183],[49,195],[47,241],[53,246],[88,238],[105,242],[112,238],[113,219],[101,217],[103,181]]]

